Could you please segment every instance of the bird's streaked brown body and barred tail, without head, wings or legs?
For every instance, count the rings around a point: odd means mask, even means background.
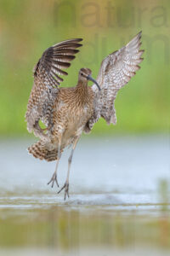
[[[57,160],[58,138],[62,133],[61,152],[79,136],[94,110],[94,92],[88,82],[73,88],[59,88],[54,102],[53,127],[46,140],[40,140],[28,148],[29,153],[40,160]]]

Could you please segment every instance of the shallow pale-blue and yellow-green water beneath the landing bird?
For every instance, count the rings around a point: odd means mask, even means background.
[[[66,201],[47,185],[55,163],[27,154],[31,143],[0,143],[0,255],[169,255],[168,137],[82,138]]]

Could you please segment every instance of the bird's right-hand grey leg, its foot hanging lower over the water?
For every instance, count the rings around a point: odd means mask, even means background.
[[[69,197],[69,175],[70,175],[70,171],[71,171],[71,160],[72,160],[72,156],[74,154],[74,150],[77,146],[77,142],[78,142],[79,138],[80,138],[80,136],[78,136],[76,138],[75,142],[73,143],[73,146],[72,146],[72,149],[71,149],[71,155],[68,159],[68,171],[67,171],[66,180],[65,180],[65,183],[64,183],[63,187],[61,189],[59,189],[59,192],[58,192],[58,194],[59,194],[63,189],[65,189],[64,199],[66,199],[66,195]]]

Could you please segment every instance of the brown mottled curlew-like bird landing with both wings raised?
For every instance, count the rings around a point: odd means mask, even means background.
[[[76,38],[54,44],[46,49],[34,67],[34,83],[27,104],[27,130],[39,137],[39,141],[28,148],[30,154],[40,160],[56,160],[53,176],[49,180],[59,187],[57,170],[59,159],[65,147],[71,145],[68,159],[68,171],[64,185],[64,199],[69,197],[69,175],[71,160],[82,132],[88,133],[94,124],[103,118],[107,124],[116,125],[115,99],[120,90],[139,70],[143,60],[140,49],[141,32],[126,46],[106,56],[101,62],[96,80],[89,68],[81,68],[75,87],[60,87],[63,81],[60,75],[71,66],[71,61],[82,46],[82,38]],[[90,87],[88,80],[94,82]],[[45,125],[42,129],[39,122]],[[59,193],[58,192],[58,193]]]

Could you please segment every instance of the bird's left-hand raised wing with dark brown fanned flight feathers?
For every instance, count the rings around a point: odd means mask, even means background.
[[[82,46],[80,41],[81,38],[76,38],[49,47],[34,67],[34,84],[27,105],[26,121],[28,131],[33,130],[37,137],[44,137],[38,125],[39,119],[45,125],[51,123],[58,85],[63,81],[59,75],[67,75],[62,69],[71,66],[70,61],[79,51],[77,48]]]

